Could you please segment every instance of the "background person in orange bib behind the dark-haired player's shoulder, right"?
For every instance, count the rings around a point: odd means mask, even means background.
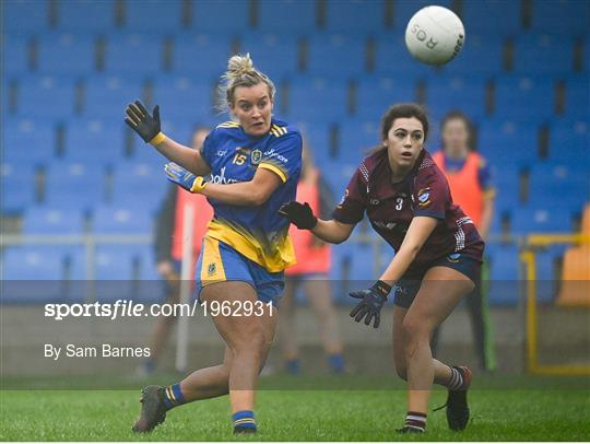
[[[442,149],[433,159],[442,171],[450,186],[452,200],[473,220],[484,241],[489,233],[494,215],[495,189],[486,160],[472,148],[472,125],[460,112],[448,113],[442,119]],[[481,281],[487,280],[487,268],[482,267]],[[485,288],[477,285],[467,297],[475,348],[482,370],[494,371],[496,358],[492,323]],[[438,342],[438,330],[433,337],[433,348]]]

